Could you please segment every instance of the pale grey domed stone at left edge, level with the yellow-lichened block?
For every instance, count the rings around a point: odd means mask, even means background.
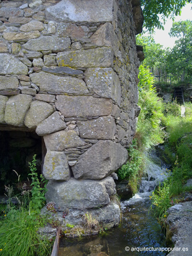
[[[0,53],[0,75],[27,75],[28,67],[8,53]]]

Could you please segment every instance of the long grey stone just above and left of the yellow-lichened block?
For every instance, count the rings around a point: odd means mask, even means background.
[[[23,47],[30,51],[65,51],[71,46],[70,38],[58,38],[49,35],[40,36],[26,42]]]

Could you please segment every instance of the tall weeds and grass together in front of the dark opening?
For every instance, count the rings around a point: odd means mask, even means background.
[[[46,224],[46,220],[39,215],[45,202],[46,188],[45,185],[41,188],[35,155],[29,167],[32,177],[31,194],[23,189],[17,195],[18,204],[15,205],[12,203],[13,187],[6,187],[9,199],[0,219],[0,253],[3,256],[51,255],[52,242],[42,239],[38,233],[38,229]],[[45,180],[42,177],[40,179],[45,184]]]

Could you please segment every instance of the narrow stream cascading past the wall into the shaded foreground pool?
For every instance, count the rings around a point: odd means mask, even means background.
[[[164,235],[150,209],[150,195],[154,188],[170,175],[168,166],[156,153],[151,154],[158,164],[148,162],[146,175],[141,180],[139,192],[131,199],[121,202],[122,223],[120,227],[107,231],[103,236],[80,239],[61,238],[59,256],[116,256],[116,255],[166,255],[160,251],[140,251],[143,247],[166,247]],[[126,251],[125,247],[129,247]],[[135,251],[133,251],[134,248]],[[127,249],[128,250],[128,249]]]

